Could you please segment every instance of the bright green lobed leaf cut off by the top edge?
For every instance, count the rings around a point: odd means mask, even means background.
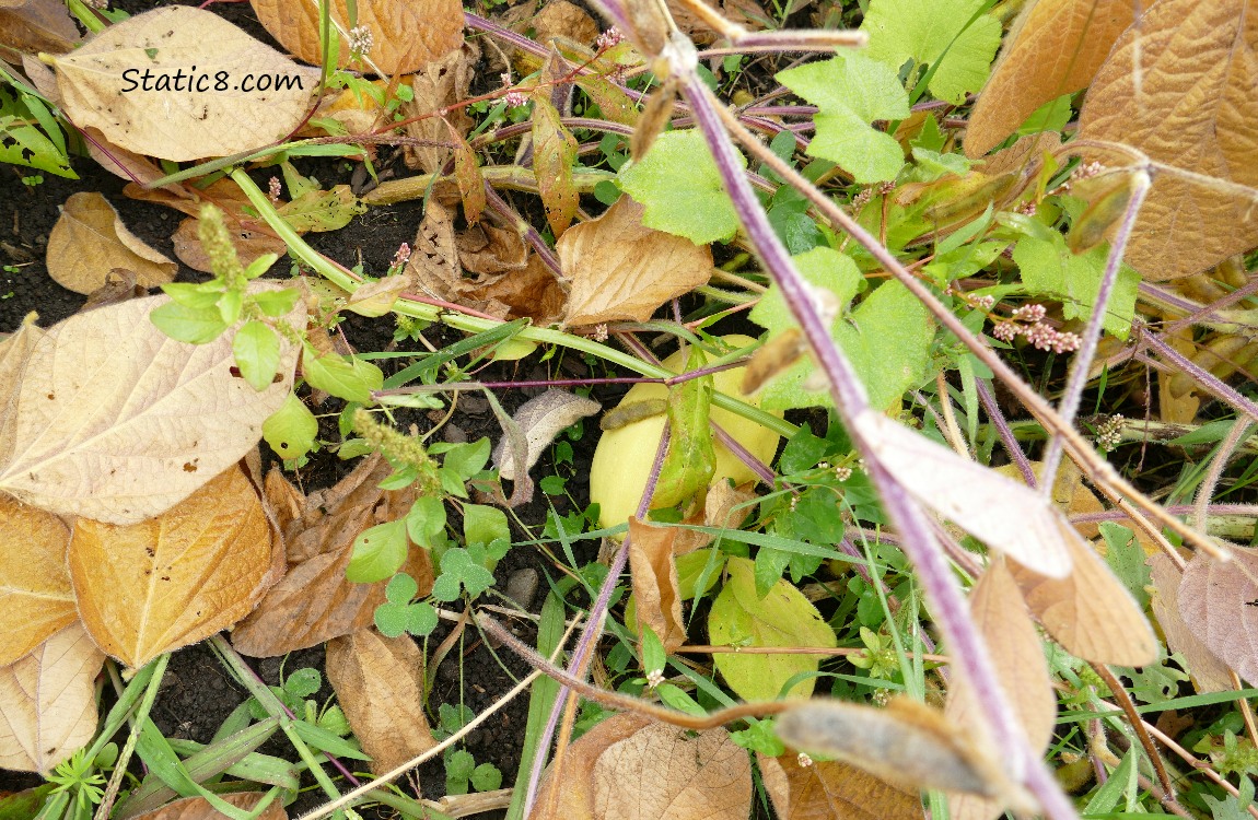
[[[937,63],[931,93],[960,104],[988,82],[1000,47],[1000,21],[988,14],[974,19],[984,5],[985,0],[871,0],[860,24],[869,34],[867,54],[897,72],[908,59]]]

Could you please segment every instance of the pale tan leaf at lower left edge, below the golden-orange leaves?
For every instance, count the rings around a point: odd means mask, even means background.
[[[74,623],[0,668],[0,767],[47,773],[92,740],[103,663]]]

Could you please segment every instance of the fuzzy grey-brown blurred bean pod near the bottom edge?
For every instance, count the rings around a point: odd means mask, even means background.
[[[937,709],[897,697],[878,709],[813,699],[777,718],[777,736],[910,789],[946,789],[995,797],[1004,778],[969,736]]]

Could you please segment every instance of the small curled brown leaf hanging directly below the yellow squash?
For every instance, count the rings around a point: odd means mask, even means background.
[[[686,643],[673,561],[673,541],[678,532],[674,527],[653,527],[637,518],[629,519],[629,571],[638,602],[638,626],[649,626],[667,653],[677,651]]]

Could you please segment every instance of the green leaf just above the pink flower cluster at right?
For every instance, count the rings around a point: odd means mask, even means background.
[[[1033,296],[1048,296],[1062,302],[1067,319],[1084,319],[1092,314],[1101,277],[1105,273],[1110,244],[1101,243],[1083,254],[1073,254],[1066,238],[1053,233],[1048,240],[1023,236],[1014,248],[1014,262],[1021,269],[1023,284]],[[1105,330],[1121,340],[1131,332],[1136,314],[1136,288],[1140,274],[1122,265],[1113,283],[1105,314]]]

